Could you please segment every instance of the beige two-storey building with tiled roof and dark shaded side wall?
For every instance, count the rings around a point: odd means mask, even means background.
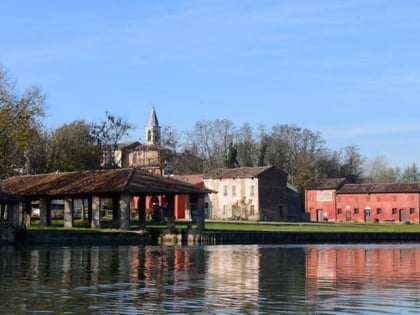
[[[203,176],[212,219],[286,221],[287,174],[274,166],[217,169]]]

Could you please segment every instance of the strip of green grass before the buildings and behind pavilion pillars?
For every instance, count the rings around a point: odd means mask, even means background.
[[[183,230],[187,225],[191,224],[189,221],[177,221],[176,228]],[[196,228],[196,225],[191,225]],[[150,229],[165,229],[165,224],[152,224],[146,223],[146,227]],[[267,232],[395,232],[395,233],[408,233],[420,232],[420,224],[402,224],[402,223],[292,223],[292,222],[251,222],[251,221],[206,221],[206,230],[217,231],[267,231]],[[52,225],[49,227],[40,227],[38,221],[33,221],[33,224],[28,227],[31,230],[63,230],[63,220],[53,220]],[[137,230],[137,222],[132,221],[130,230]],[[65,230],[90,230],[86,221],[74,221],[73,228],[66,228]],[[101,221],[100,231],[119,231],[112,228],[112,221],[104,219]]]

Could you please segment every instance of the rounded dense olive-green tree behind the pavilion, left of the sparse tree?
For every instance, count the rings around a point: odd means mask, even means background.
[[[90,125],[83,120],[64,124],[51,137],[48,150],[49,171],[81,171],[98,169],[102,153],[91,135]]]

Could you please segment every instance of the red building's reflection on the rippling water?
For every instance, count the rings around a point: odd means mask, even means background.
[[[404,247],[307,247],[306,281],[310,292],[326,286],[360,288],[372,281],[388,284],[420,274],[420,251]],[[368,277],[368,278],[367,278]],[[350,285],[349,285],[350,284]]]

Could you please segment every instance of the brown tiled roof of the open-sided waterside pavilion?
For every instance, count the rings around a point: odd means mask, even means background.
[[[8,178],[2,190],[21,196],[83,194],[194,194],[211,192],[185,182],[135,168],[26,175]]]

